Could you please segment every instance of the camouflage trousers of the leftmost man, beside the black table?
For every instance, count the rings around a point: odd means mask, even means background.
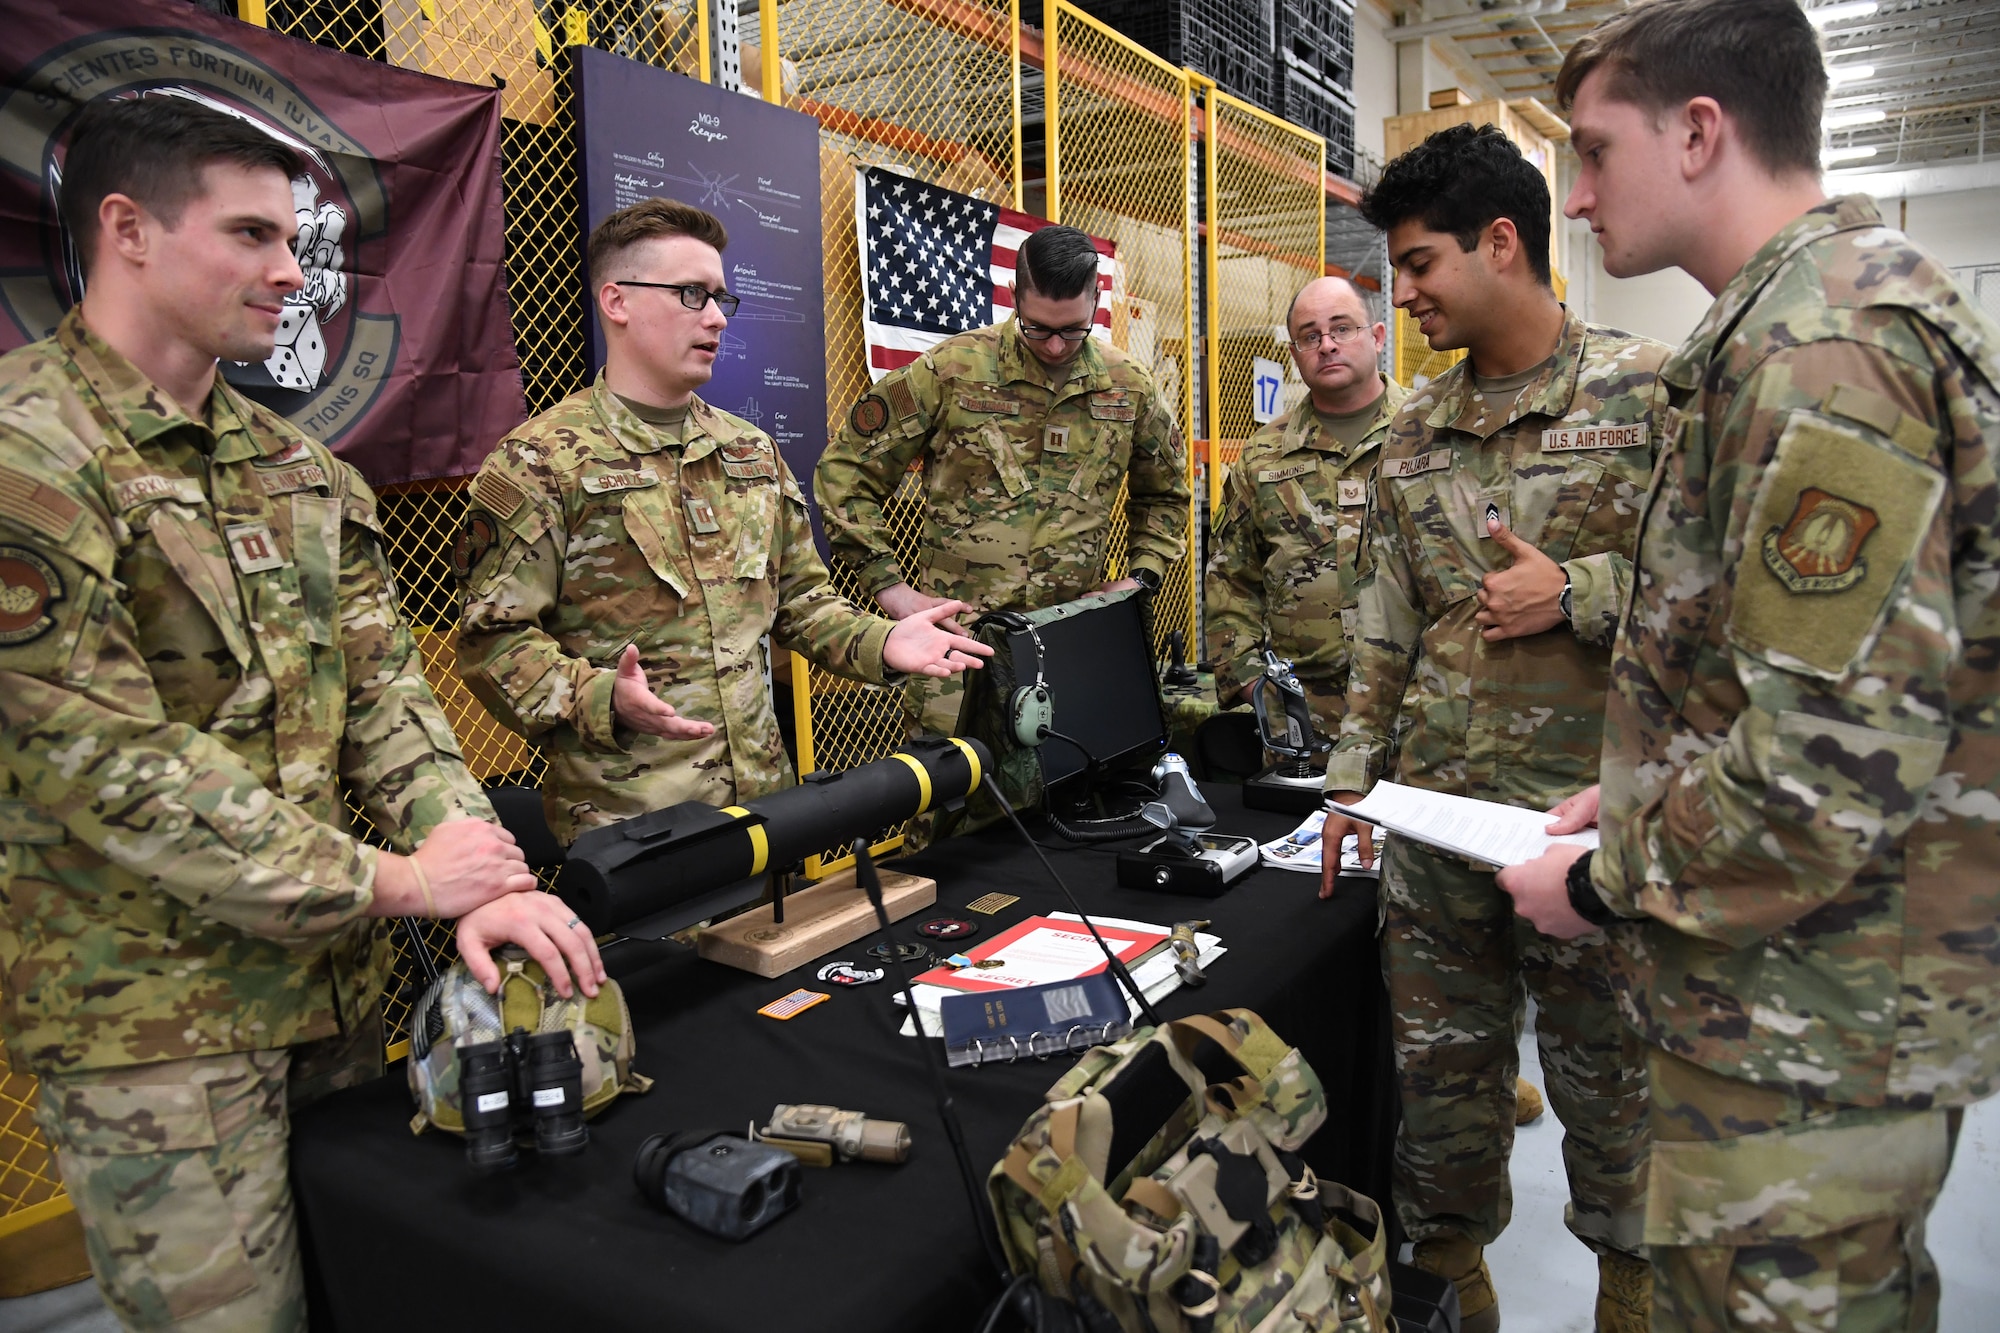
[[[362,1027],[292,1051],[38,1075],[36,1123],[128,1329],[306,1327],[288,1117],[382,1071],[380,1019]]]

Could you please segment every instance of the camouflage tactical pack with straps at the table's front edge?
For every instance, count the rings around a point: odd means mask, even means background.
[[[988,1175],[1008,1263],[1088,1327],[1392,1329],[1380,1209],[1298,1157],[1324,1119],[1312,1067],[1248,1009],[1096,1047]]]

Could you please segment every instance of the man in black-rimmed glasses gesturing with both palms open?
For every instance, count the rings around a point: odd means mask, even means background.
[[[766,636],[876,683],[990,652],[938,626],[960,602],[896,624],[836,594],[778,446],[694,394],[738,304],[726,244],[674,200],[604,218],[588,252],[604,370],[500,440],[472,482],[458,671],[542,747],[564,843],[792,781]]]

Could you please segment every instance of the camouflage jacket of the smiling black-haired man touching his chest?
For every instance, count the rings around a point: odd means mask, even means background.
[[[1402,404],[1376,464],[1328,791],[1388,777],[1400,727],[1396,781],[1412,787],[1546,809],[1596,781],[1666,354],[1570,312],[1550,368],[1512,402],[1488,402],[1460,360]],[[1480,636],[1480,578],[1512,564],[1488,508],[1570,574],[1570,624]]]

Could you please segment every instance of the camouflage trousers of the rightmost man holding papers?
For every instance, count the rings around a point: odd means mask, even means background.
[[[1652,1331],[1926,1333],[1960,1111],[1836,1107],[1648,1049]]]

